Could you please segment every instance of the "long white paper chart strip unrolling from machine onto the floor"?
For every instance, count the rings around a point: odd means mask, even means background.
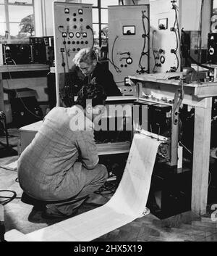
[[[142,217],[159,144],[155,139],[135,133],[122,181],[106,205],[33,231],[23,240],[92,241]],[[7,239],[7,234],[5,237]],[[8,239],[16,241],[11,236]]]

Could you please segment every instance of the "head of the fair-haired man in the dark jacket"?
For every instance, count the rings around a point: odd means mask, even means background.
[[[97,64],[97,57],[95,51],[90,48],[84,48],[77,52],[73,59],[85,76],[90,75]]]

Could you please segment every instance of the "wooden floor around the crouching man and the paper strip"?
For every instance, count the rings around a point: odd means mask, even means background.
[[[6,231],[17,229],[23,234],[28,234],[59,220],[45,220],[41,217],[40,211],[33,209],[33,205],[21,201],[22,189],[17,182],[17,171],[2,168],[17,158],[16,155],[0,158],[0,190],[11,190],[17,194],[12,202],[4,205],[4,224]],[[12,193],[3,192],[0,195],[3,194],[8,197],[12,196]],[[93,194],[88,201],[103,205],[108,199]],[[4,199],[0,198],[0,200]],[[78,214],[92,210],[94,207],[96,206],[91,204],[82,205]],[[184,212],[166,220],[160,220],[150,213],[95,241],[217,241],[217,221],[211,220],[210,213],[198,216],[192,212]]]

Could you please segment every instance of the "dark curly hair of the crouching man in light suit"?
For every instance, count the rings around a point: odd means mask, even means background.
[[[77,94],[77,100],[75,104],[78,104],[85,109],[87,100],[92,100],[92,106],[104,105],[106,100],[106,94],[102,86],[97,83],[89,83],[83,86]]]

